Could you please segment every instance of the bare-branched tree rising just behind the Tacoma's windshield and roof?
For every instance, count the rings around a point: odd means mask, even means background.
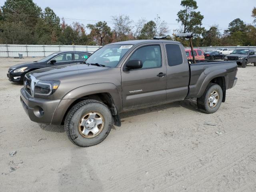
[[[127,40],[128,34],[132,30],[132,20],[128,15],[112,16],[114,24],[114,34],[118,41]]]

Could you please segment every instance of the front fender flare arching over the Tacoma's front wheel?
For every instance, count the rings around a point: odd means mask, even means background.
[[[112,83],[89,84],[71,90],[62,98],[54,112],[51,124],[61,124],[62,119],[64,118],[64,115],[66,114],[68,108],[77,99],[97,93],[110,94],[112,100],[114,101],[114,105],[116,106],[117,112],[120,113],[122,111],[122,98],[116,85]]]

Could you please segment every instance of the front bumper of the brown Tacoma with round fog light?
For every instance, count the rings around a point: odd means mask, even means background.
[[[34,122],[52,124],[54,112],[60,101],[60,99],[34,98],[24,88],[20,90],[20,102],[30,120]]]

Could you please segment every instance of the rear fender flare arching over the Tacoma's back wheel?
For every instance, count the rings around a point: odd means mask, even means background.
[[[218,69],[218,70],[214,70],[213,72],[210,72],[210,74],[208,74],[206,76],[206,78],[204,78],[204,81],[202,82],[201,87],[198,90],[198,94],[196,95],[196,98],[199,98],[204,94],[204,91],[205,91],[207,85],[210,83],[211,80],[213,80],[216,77],[224,77],[226,87],[227,87],[228,86],[228,76],[226,75],[226,72],[227,72],[226,69]]]

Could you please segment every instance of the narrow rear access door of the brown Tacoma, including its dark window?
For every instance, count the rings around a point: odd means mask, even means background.
[[[167,67],[167,101],[184,99],[188,94],[190,78],[188,60],[185,52],[182,52],[182,44],[164,43],[166,50]]]

